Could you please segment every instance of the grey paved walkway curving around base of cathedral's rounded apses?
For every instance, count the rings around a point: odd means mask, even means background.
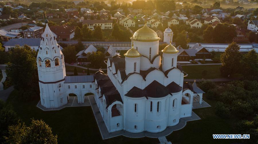
[[[94,97],[89,97],[90,103],[91,103],[91,108],[93,110],[93,114],[95,116],[95,119],[97,121],[97,125],[99,127],[99,131],[101,133],[102,139],[109,139],[112,137],[116,137],[119,135],[124,135],[126,137],[131,137],[131,138],[140,138],[140,137],[152,137],[152,138],[158,138],[158,137],[165,137],[169,134],[171,134],[173,131],[182,129],[185,127],[187,121],[193,121],[193,120],[199,120],[201,119],[198,115],[196,115],[192,111],[192,116],[191,117],[184,117],[179,119],[179,123],[175,126],[167,127],[164,131],[160,133],[150,133],[147,131],[141,132],[141,133],[130,133],[125,130],[120,130],[120,131],[115,131],[112,133],[109,133],[107,131],[107,127],[102,119],[101,113],[99,112],[99,108],[95,102]]]

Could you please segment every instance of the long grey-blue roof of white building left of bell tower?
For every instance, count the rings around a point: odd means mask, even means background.
[[[40,38],[12,38],[6,42],[3,46],[40,46]]]

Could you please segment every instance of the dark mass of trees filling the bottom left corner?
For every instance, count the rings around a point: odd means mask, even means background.
[[[0,100],[0,143],[52,143],[57,135],[43,120],[34,120],[26,126],[11,105]]]

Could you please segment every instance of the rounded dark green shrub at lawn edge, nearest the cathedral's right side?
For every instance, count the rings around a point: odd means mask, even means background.
[[[222,102],[217,102],[215,105],[215,114],[221,118],[228,118],[230,115],[229,108],[226,108],[226,105]]]

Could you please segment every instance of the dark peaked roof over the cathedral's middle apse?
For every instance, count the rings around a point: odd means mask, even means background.
[[[165,86],[163,86],[161,83],[154,80],[152,83],[150,83],[146,88],[143,89],[146,96],[151,98],[162,98],[167,95],[172,94],[167,90]]]

